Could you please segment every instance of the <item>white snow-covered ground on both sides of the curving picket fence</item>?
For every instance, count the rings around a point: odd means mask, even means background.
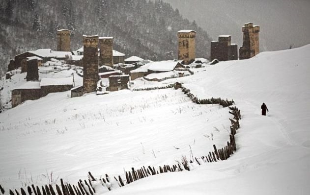
[[[309,53],[307,45],[221,62],[156,84],[135,80],[135,88],[178,81],[199,98],[234,99],[242,114],[237,152],[225,161],[147,177],[110,194],[309,195]],[[85,178],[87,171],[96,177],[122,174],[123,168],[189,157],[189,146],[200,156],[213,143],[221,147],[227,141],[228,109],[194,104],[180,90],[68,94],[50,94],[0,114],[2,186],[18,188],[30,175],[45,183],[42,174],[51,171],[70,182]],[[262,102],[269,109],[266,117],[260,115]],[[204,136],[211,133],[213,141]]]

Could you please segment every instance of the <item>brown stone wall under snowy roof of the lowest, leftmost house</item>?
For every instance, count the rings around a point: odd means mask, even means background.
[[[12,108],[26,100],[40,98],[40,89],[15,89],[12,90]]]

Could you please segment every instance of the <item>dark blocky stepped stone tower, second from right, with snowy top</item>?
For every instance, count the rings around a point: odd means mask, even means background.
[[[220,35],[219,41],[211,41],[211,61],[214,59],[219,61],[238,59],[238,46],[231,44],[230,35]]]

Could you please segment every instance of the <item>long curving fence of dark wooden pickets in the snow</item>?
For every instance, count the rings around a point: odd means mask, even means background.
[[[174,85],[175,86],[175,85]],[[182,88],[182,87],[181,87]],[[137,90],[139,91],[139,90]],[[216,145],[213,145],[214,151],[209,151],[206,155],[200,157],[192,157],[190,161],[183,157],[180,161],[176,161],[174,165],[163,165],[155,168],[154,166],[141,167],[139,169],[131,168],[131,170],[125,171],[125,178],[123,179],[120,175],[118,177],[111,178],[108,174],[105,174],[105,178],[95,178],[91,172],[88,172],[88,179],[80,179],[77,185],[71,185],[70,183],[64,183],[60,179],[60,186],[56,185],[45,185],[45,186],[28,186],[27,189],[21,188],[18,190],[9,190],[10,195],[95,195],[96,187],[94,182],[100,182],[104,190],[111,191],[115,188],[123,187],[134,181],[142,179],[144,177],[152,176],[155,174],[161,174],[166,172],[175,171],[191,171],[189,164],[195,163],[196,165],[202,165],[206,163],[213,163],[217,161],[223,161],[228,159],[234,152],[237,151],[235,134],[236,130],[240,128],[239,120],[241,120],[240,110],[234,104],[233,100],[224,100],[221,98],[211,98],[211,99],[197,99],[196,96],[190,93],[190,90],[182,88],[184,94],[192,99],[193,102],[197,104],[209,104],[217,103],[223,107],[229,106],[229,113],[233,115],[233,119],[229,119],[231,122],[229,141],[227,141],[226,146],[217,149]],[[97,185],[96,185],[97,186]],[[5,190],[0,185],[0,192],[4,195]]]

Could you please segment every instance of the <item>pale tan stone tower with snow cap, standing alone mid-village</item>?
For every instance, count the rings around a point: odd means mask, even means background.
[[[183,60],[185,64],[189,64],[196,58],[196,31],[180,30],[178,34],[178,60]]]

